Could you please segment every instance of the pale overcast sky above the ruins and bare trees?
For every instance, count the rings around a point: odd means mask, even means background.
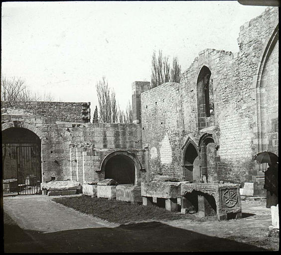
[[[134,81],[150,81],[151,55],[182,71],[205,48],[238,51],[240,26],[266,6],[237,1],[3,2],[1,71],[64,102],[97,105],[106,76],[122,108]]]

